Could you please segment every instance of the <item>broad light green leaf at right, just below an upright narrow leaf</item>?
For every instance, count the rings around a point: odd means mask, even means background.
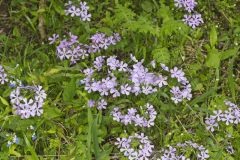
[[[215,48],[209,51],[205,65],[211,68],[218,68],[220,66],[220,54]]]

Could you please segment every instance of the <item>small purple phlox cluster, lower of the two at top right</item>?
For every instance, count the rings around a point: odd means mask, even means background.
[[[201,14],[195,13],[192,15],[184,15],[183,22],[194,29],[203,23],[203,19]]]

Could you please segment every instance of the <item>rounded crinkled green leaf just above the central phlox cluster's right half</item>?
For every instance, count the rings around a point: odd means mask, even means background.
[[[169,63],[170,62],[170,53],[167,48],[158,48],[152,51],[153,58],[158,63]]]

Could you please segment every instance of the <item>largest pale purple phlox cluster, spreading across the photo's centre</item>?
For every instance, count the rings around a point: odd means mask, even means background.
[[[134,56],[131,56],[134,64],[129,65],[117,59],[116,56],[98,56],[93,62],[93,67],[83,70],[85,78],[81,84],[85,85],[85,90],[88,93],[98,92],[101,96],[111,96],[113,98],[120,97],[121,95],[129,96],[134,94],[149,95],[158,91],[163,86],[168,85],[168,77],[160,73],[150,72],[148,68],[143,66],[143,60],[137,61]],[[152,64],[152,63],[151,63]],[[174,103],[182,102],[184,99],[190,100],[192,98],[191,85],[185,77],[184,72],[177,67],[169,69],[162,64],[164,71],[170,74],[171,78],[177,79],[181,86],[173,86],[171,98]],[[106,78],[96,77],[99,73],[107,71]],[[122,74],[116,76],[115,74]],[[120,77],[120,78],[117,78]],[[121,79],[125,79],[124,83]]]

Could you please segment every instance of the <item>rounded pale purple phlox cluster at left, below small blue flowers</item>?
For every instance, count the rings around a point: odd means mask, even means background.
[[[21,90],[30,90],[34,92],[34,98],[31,95],[25,96]],[[15,114],[21,116],[22,119],[40,116],[43,114],[43,103],[47,94],[42,86],[21,86],[17,87],[10,94],[11,104],[15,110]]]

